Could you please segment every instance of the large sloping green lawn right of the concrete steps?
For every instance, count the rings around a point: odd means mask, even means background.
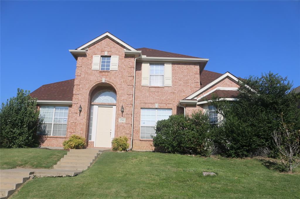
[[[268,169],[257,159],[155,152],[104,152],[75,177],[30,180],[16,198],[299,198],[300,172]],[[217,173],[204,177],[202,171]]]

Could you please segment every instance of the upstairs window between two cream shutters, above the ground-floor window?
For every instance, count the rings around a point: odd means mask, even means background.
[[[150,63],[150,86],[164,86],[164,63]]]

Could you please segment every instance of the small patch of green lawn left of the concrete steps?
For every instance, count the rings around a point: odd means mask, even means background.
[[[55,165],[67,151],[49,149],[0,149],[0,169],[41,168]]]

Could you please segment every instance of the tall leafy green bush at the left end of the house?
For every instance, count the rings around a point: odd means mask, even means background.
[[[16,97],[2,103],[1,148],[38,147],[36,134],[41,123],[36,99],[32,99],[29,93],[18,88]]]

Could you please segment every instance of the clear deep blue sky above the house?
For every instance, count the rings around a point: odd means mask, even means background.
[[[1,102],[73,79],[68,52],[109,31],[134,48],[210,59],[235,76],[300,85],[300,1],[1,1]]]

